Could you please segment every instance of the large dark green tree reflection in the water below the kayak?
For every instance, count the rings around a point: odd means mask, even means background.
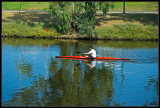
[[[83,67],[75,66],[77,62],[51,57],[48,79],[40,75],[5,106],[109,106],[114,94],[112,71],[103,64],[102,69],[90,70],[83,62]]]

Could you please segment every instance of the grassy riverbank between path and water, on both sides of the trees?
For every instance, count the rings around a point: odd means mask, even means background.
[[[47,32],[50,23],[48,13],[2,12],[2,37],[158,41],[158,14],[97,14],[94,37],[64,35],[51,28]]]

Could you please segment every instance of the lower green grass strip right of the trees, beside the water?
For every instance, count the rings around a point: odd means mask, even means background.
[[[118,39],[158,39],[158,27],[153,25],[115,24],[96,29],[98,36]]]

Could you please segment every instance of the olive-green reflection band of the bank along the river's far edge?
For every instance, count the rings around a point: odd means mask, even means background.
[[[89,46],[98,46],[98,47],[112,47],[112,48],[124,48],[124,49],[135,49],[135,48],[157,48],[158,42],[154,41],[96,41],[96,40],[63,40],[63,39],[7,39],[2,38],[3,44],[12,45],[15,47],[24,45],[24,46],[45,46],[45,45],[58,45],[58,44],[67,44],[75,46],[75,48],[89,47]],[[65,45],[64,45],[65,46]],[[78,50],[78,49],[77,49]]]

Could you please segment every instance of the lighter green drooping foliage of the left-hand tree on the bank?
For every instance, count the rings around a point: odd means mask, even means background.
[[[52,27],[64,34],[68,33],[70,30],[70,19],[72,15],[69,8],[70,4],[70,2],[52,2],[49,5]]]

